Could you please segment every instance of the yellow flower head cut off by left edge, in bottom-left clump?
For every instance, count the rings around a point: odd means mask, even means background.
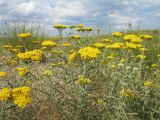
[[[10,89],[3,88],[0,90],[0,100],[8,100],[10,98]]]

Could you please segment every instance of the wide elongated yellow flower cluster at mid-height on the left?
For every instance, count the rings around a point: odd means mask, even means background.
[[[17,57],[21,60],[41,61],[43,54],[43,51],[37,49],[33,51],[27,51],[25,53],[18,53]]]

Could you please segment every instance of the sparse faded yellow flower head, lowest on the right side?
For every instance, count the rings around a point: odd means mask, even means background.
[[[130,89],[122,89],[119,94],[124,97],[133,98],[135,96],[134,92]]]

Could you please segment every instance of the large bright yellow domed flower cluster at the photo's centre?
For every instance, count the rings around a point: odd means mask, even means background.
[[[78,51],[78,54],[80,54],[81,59],[88,60],[97,58],[101,51],[98,48],[84,47]]]

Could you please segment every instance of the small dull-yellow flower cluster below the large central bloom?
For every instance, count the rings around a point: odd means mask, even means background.
[[[77,85],[87,85],[90,84],[92,81],[84,76],[78,76],[78,80],[76,80]]]

